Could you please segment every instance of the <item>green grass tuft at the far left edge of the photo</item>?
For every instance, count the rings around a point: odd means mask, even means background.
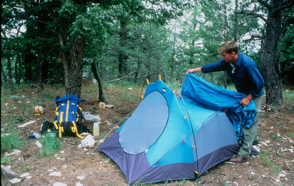
[[[4,152],[10,152],[13,149],[21,150],[25,142],[20,140],[16,135],[16,132],[11,133],[9,136],[1,137],[1,154]]]

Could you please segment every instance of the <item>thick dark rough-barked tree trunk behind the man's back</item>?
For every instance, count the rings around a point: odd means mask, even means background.
[[[266,37],[261,53],[261,69],[266,89],[266,104],[281,105],[282,97],[282,77],[280,71],[280,54],[277,54],[277,43],[281,35],[281,11],[276,7],[281,6],[281,0],[271,3],[268,13],[268,23],[266,24]]]

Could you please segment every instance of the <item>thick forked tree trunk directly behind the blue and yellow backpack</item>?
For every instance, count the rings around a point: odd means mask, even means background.
[[[81,97],[84,62],[84,36],[74,36],[70,44],[70,60],[67,62],[65,53],[62,53],[64,69],[64,86],[66,95]]]

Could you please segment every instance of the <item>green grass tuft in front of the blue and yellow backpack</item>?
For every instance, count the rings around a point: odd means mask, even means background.
[[[40,143],[43,145],[42,150],[38,154],[40,157],[48,157],[56,154],[56,152],[62,147],[61,139],[57,136],[51,136],[46,134],[44,138],[40,138]]]

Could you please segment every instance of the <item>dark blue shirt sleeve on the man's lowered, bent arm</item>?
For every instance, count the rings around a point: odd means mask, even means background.
[[[250,94],[254,95],[255,97],[263,95],[264,80],[259,73],[257,66],[255,64],[249,65],[247,67],[247,73],[248,77],[250,78],[250,82],[252,82]]]

